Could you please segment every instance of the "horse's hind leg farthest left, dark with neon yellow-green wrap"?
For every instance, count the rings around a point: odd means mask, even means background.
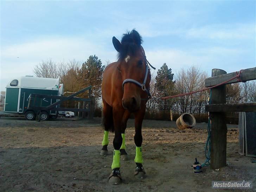
[[[102,141],[102,149],[100,155],[108,154],[108,132],[113,129],[113,114],[112,107],[110,107],[106,102],[103,101],[103,126],[104,126],[104,135]]]

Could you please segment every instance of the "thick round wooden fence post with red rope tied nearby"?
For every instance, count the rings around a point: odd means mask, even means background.
[[[226,74],[221,69],[212,69],[212,77]],[[226,85],[211,89],[211,104],[226,103]],[[211,168],[226,166],[227,126],[226,114],[211,112]]]

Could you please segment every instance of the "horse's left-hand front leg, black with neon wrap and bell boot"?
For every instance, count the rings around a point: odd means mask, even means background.
[[[123,108],[113,108],[113,120],[115,128],[115,137],[113,140],[114,154],[111,165],[112,172],[109,175],[109,183],[113,185],[120,184],[122,181],[120,174],[120,148],[122,146],[122,117],[124,114]]]

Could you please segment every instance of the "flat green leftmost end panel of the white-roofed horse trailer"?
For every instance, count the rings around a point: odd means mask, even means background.
[[[5,112],[17,112],[19,88],[7,88],[5,97]]]

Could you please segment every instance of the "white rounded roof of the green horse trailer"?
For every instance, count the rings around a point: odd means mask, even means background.
[[[6,88],[58,90],[59,79],[22,76],[9,81]]]

